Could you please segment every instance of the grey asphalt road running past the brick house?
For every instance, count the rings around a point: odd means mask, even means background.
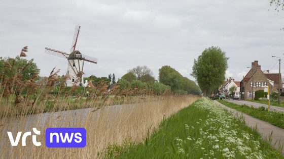
[[[250,107],[254,107],[254,108],[259,108],[259,107],[264,107],[267,109],[267,104],[261,104],[261,103],[257,103],[257,102],[251,102],[251,101],[246,101],[246,100],[233,100],[233,99],[223,99],[225,101],[229,101],[229,102],[233,102],[239,105],[245,104],[248,105]],[[272,106],[270,105],[269,107],[270,111],[278,111],[278,112],[284,112],[284,108],[282,107],[276,107],[276,106]]]

